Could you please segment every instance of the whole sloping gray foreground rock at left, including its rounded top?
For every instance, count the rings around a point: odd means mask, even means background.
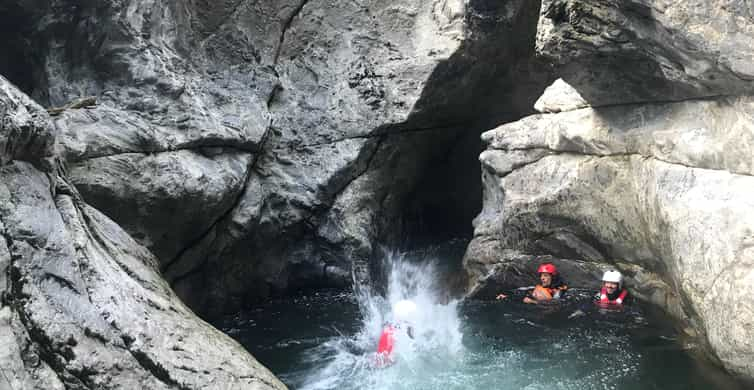
[[[0,127],[0,387],[285,388],[83,201],[41,107],[3,78],[0,91],[12,107]]]

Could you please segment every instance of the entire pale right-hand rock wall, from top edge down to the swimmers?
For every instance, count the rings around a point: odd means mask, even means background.
[[[543,1],[558,79],[482,136],[470,295],[528,283],[540,256],[577,284],[617,267],[754,378],[752,20],[744,1]]]

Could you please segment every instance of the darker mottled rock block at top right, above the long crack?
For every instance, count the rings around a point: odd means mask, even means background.
[[[754,88],[751,3],[544,0],[537,52],[591,105]]]

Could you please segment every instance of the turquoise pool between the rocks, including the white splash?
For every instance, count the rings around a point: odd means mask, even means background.
[[[432,280],[430,266],[393,259],[386,298],[313,293],[217,325],[291,389],[743,388],[694,358],[662,315],[640,306],[569,319],[589,307],[587,291],[554,307],[439,304]],[[398,340],[394,365],[375,368],[381,326],[401,298],[420,306],[416,337]]]

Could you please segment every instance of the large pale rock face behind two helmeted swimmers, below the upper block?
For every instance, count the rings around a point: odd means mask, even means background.
[[[717,98],[535,115],[485,133],[472,280],[514,261],[505,250],[638,266],[659,277],[634,288],[687,317],[728,369],[754,375],[754,299],[738,293],[754,283],[753,114],[750,97]]]

